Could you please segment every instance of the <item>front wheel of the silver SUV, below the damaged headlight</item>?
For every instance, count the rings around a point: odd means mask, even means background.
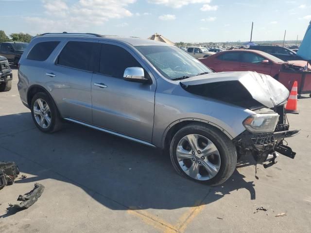
[[[173,136],[170,157],[178,174],[208,185],[224,183],[237,164],[232,141],[217,128],[200,123],[187,125]]]

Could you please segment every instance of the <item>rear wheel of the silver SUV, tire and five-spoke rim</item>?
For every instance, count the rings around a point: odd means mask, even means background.
[[[44,133],[61,129],[61,119],[54,101],[44,92],[35,94],[31,101],[31,113],[35,126]]]

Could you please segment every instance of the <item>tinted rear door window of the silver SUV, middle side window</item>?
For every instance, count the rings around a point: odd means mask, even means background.
[[[57,64],[65,67],[92,71],[93,48],[97,43],[70,41],[58,56]]]

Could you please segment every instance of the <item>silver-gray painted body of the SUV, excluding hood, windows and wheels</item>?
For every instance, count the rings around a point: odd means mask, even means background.
[[[61,43],[46,61],[25,59],[36,43],[55,40]],[[95,41],[121,46],[128,50],[149,73],[152,83],[128,82],[101,74],[56,66],[57,55],[69,40]],[[134,48],[135,45],[169,46],[151,40],[113,36],[35,37],[20,59],[21,65],[18,71],[20,98],[27,103],[29,88],[40,85],[50,93],[62,117],[161,148],[164,146],[164,138],[168,130],[184,120],[214,125],[231,139],[245,131],[242,121],[247,116],[255,114],[254,112],[185,91],[179,81],[164,78]],[[53,73],[56,76],[50,77],[46,73]],[[216,78],[218,74],[211,75]],[[236,79],[241,75],[241,73],[231,74]],[[206,77],[198,76],[197,80],[206,80]],[[228,79],[223,78],[222,81],[225,80]],[[190,82],[197,81],[192,78],[188,84],[191,84]],[[101,88],[94,83],[104,83],[107,87]]]

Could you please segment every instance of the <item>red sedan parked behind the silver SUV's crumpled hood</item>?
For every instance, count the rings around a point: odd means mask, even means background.
[[[285,63],[281,59],[259,50],[228,50],[199,60],[216,72],[256,71],[276,79]]]

